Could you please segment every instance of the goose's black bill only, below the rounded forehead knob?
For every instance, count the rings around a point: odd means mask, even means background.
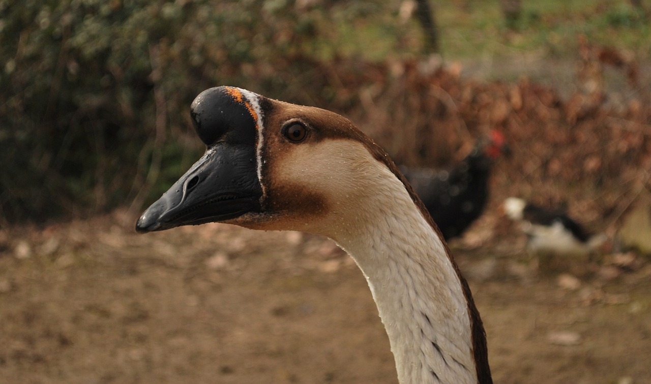
[[[251,146],[216,144],[140,217],[138,232],[221,222],[260,211],[262,188]]]

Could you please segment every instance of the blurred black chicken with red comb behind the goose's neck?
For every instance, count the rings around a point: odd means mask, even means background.
[[[493,161],[503,153],[508,153],[504,135],[493,130],[447,170],[400,167],[445,240],[462,235],[482,214],[488,201]]]

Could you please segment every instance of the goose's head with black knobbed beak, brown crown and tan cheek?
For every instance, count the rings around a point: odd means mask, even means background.
[[[206,153],[145,211],[139,232],[225,222],[337,240],[378,178],[404,181],[383,149],[334,112],[228,86],[199,94],[190,112]]]

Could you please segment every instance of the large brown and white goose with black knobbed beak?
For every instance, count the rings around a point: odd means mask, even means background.
[[[220,86],[191,104],[206,152],[138,219],[326,235],[365,275],[404,383],[492,383],[471,291],[393,160],[324,109]]]

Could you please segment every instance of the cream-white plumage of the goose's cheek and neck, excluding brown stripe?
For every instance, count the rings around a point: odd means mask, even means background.
[[[293,229],[333,238],[355,259],[389,335],[400,383],[477,383],[468,303],[441,239],[402,182],[365,147],[326,143],[299,147],[284,160],[286,182],[300,179],[330,201],[326,220]],[[331,153],[340,159],[333,162]],[[306,164],[301,159],[308,156]]]

